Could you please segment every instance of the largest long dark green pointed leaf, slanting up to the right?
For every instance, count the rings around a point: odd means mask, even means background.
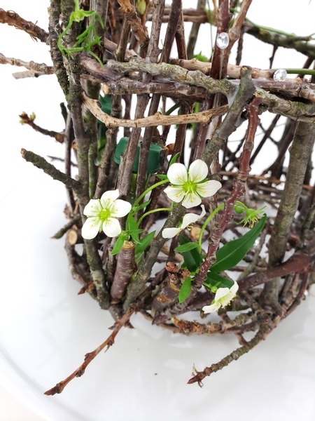
[[[262,228],[265,225],[267,215],[265,214],[260,221],[250,231],[239,239],[229,241],[216,252],[217,262],[211,266],[211,272],[223,272],[223,270],[235,267],[241,259],[251,250],[253,243],[258,238]]]

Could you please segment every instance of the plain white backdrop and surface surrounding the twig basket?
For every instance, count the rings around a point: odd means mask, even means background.
[[[48,1],[3,0],[0,6],[47,29]],[[195,6],[195,1],[184,1],[184,6]],[[253,1],[248,17],[299,35],[315,32],[314,2],[300,0],[294,6]],[[8,57],[50,64],[48,46],[22,31],[0,25],[0,40],[0,52]],[[201,33],[199,51],[209,54],[209,26]],[[272,46],[245,36],[242,64],[267,68],[270,55]],[[279,48],[274,67],[302,67],[304,60]],[[122,330],[113,348],[99,354],[82,378],[61,395],[43,395],[106,339],[113,321],[89,296],[76,295],[80,286],[67,269],[63,240],[50,239],[66,222],[63,185],[20,156],[22,147],[43,156],[64,155],[62,145],[18,124],[20,112],[35,112],[39,126],[62,131],[62,91],[55,76],[15,81],[11,73],[20,70],[0,67],[0,421],[313,421],[314,289],[265,342],[207,377],[202,389],[186,385],[193,363],[202,370],[235,349],[237,340],[173,335],[135,316],[135,329]],[[268,121],[267,114],[262,116],[265,126]],[[270,142],[258,170],[275,156]],[[55,165],[62,169],[61,163]]]

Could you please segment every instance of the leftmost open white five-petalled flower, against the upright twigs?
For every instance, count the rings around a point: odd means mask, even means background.
[[[118,236],[121,232],[117,218],[122,218],[130,212],[132,206],[129,202],[117,199],[119,190],[111,190],[102,194],[101,199],[91,199],[85,206],[83,213],[88,218],[82,227],[83,239],[94,239],[99,231],[106,236]]]

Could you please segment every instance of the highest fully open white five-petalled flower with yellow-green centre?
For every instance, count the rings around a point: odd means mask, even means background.
[[[193,161],[188,171],[182,163],[173,163],[167,171],[172,186],[167,187],[165,193],[176,203],[183,201],[185,208],[198,206],[201,198],[213,196],[221,187],[221,182],[216,180],[204,181],[207,175],[207,163],[201,159]]]

